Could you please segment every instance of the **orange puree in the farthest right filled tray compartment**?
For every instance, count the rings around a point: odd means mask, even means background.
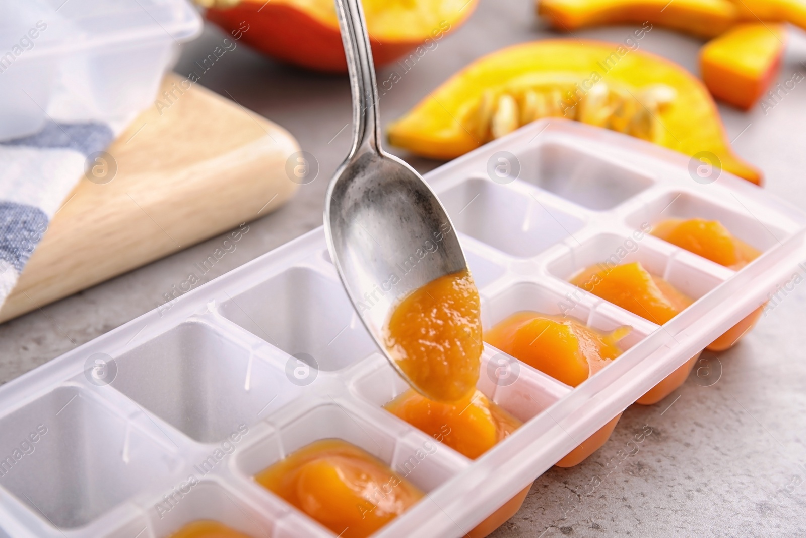
[[[733,237],[716,220],[664,220],[655,227],[652,235],[730,269],[742,269],[761,254]]]

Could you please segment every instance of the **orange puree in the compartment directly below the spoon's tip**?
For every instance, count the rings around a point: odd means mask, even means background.
[[[434,402],[407,390],[385,407],[473,460],[521,425],[520,420],[490,402],[479,390],[471,398],[455,403]]]

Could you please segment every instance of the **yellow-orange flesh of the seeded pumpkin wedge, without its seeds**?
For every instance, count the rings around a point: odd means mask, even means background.
[[[557,95],[549,102],[555,106],[567,105],[575,102],[581,87],[595,87],[596,83],[633,96],[659,86],[671,90],[675,96],[671,102],[660,107],[659,113],[647,116],[652,125],[657,123],[658,128],[652,130],[654,135],[642,138],[688,156],[711,152],[725,171],[761,184],[758,169],[733,153],[716,103],[702,82],[659,56],[641,50],[628,52],[618,44],[591,40],[517,44],[475,60],[431,90],[401,119],[391,123],[389,142],[421,156],[453,159],[490,140],[480,130],[480,127],[486,129],[489,123],[488,115],[481,111],[493,110],[488,98],[492,98],[494,104],[496,99],[501,102],[503,98],[512,97],[509,102],[526,110],[525,104],[518,102],[521,93],[525,96],[532,90],[553,89]],[[585,95],[592,93],[588,91]],[[597,124],[576,114],[577,106],[571,108],[574,112],[566,117]],[[646,111],[646,105],[638,110]],[[496,115],[497,112],[493,119]],[[563,116],[563,111],[556,115]],[[544,118],[551,114],[536,116]],[[615,125],[610,128],[628,132]],[[640,133],[629,131],[628,134],[638,136]]]

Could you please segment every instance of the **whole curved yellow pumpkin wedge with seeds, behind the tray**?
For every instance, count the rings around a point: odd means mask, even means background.
[[[388,128],[392,144],[452,159],[544,117],[625,132],[754,183],[761,173],[733,154],[708,90],[659,56],[597,41],[545,40],[476,60]]]

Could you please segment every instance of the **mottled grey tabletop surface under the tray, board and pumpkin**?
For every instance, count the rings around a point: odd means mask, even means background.
[[[575,35],[623,41],[630,31]],[[540,27],[530,0],[481,0],[465,26],[438,41],[381,98],[384,123],[476,57],[548,36],[559,35]],[[177,71],[197,70],[194,62],[223,37],[207,28],[185,48]],[[796,41],[782,81],[797,69],[806,72],[799,63],[806,47]],[[655,27],[640,46],[696,72],[698,40]],[[392,69],[382,69],[379,80]],[[241,44],[200,83],[288,128],[321,169],[287,206],[251,223],[235,252],[206,274],[210,280],[322,223],[326,181],[347,152],[351,112],[346,77],[277,65]],[[806,85],[783,95],[767,114],[760,107],[749,114],[721,112],[737,152],[767,173],[767,189],[806,206]],[[409,162],[421,172],[439,164]],[[152,309],[221,241],[208,240],[0,325],[0,382]],[[806,536],[806,484],[800,483],[806,480],[804,305],[806,286],[797,286],[742,344],[718,363],[712,358],[713,368],[721,364],[722,370],[715,385],[689,380],[657,405],[630,407],[604,448],[574,469],[555,468],[538,478],[521,511],[493,536]],[[625,457],[627,441],[645,425],[652,434]]]

